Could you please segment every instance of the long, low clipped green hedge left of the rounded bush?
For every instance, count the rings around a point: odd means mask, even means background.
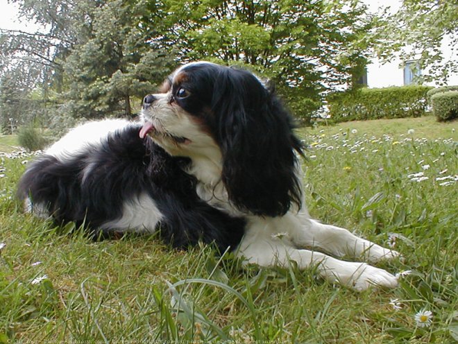
[[[342,122],[420,117],[425,113],[426,93],[431,88],[418,85],[363,88],[334,94],[328,98],[331,119]]]

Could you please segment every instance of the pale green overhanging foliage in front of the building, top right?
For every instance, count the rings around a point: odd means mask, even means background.
[[[458,72],[458,4],[454,0],[404,0],[394,14],[387,9],[376,24],[375,51],[384,61],[396,55],[404,61],[418,60],[425,81],[446,83]],[[452,58],[441,51],[448,40]]]

